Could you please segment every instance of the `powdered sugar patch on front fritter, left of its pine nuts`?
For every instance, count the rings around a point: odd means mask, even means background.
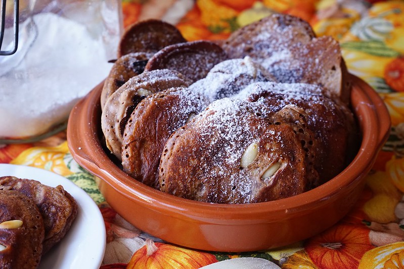
[[[234,193],[250,200],[252,193],[251,176],[241,175],[239,171],[240,159],[248,144],[259,140],[259,133],[267,128],[267,122],[254,121],[252,127],[251,116],[268,114],[266,107],[249,103],[240,99],[222,98],[212,102],[208,108],[195,119],[200,133],[200,144],[203,151],[200,164],[207,181],[223,178],[217,184],[222,196],[231,196],[229,193],[234,186]],[[256,117],[255,115],[253,117]],[[260,124],[259,124],[260,122]],[[258,124],[257,124],[258,123]],[[275,138],[275,133],[273,133]],[[282,141],[278,137],[279,141]],[[231,201],[228,201],[231,202]]]

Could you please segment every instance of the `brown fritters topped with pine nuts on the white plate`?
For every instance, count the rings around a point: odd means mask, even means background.
[[[36,268],[77,216],[75,199],[59,185],[0,177],[1,268]]]

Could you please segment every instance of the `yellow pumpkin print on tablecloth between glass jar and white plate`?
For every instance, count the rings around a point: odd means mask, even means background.
[[[68,176],[73,172],[65,163],[66,154],[69,154],[67,142],[56,147],[31,147],[23,151],[11,164],[37,167]]]

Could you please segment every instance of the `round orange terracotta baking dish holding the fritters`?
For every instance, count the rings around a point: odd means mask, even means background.
[[[285,246],[331,227],[355,204],[390,130],[379,95],[352,76],[354,113],[363,132],[361,148],[338,176],[294,197],[255,204],[210,204],[178,198],[126,175],[102,142],[96,86],[73,108],[69,149],[83,168],[100,178],[101,193],[128,222],[173,244],[209,251],[255,251]]]

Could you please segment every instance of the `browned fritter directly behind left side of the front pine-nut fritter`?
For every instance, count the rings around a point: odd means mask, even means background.
[[[123,134],[123,171],[158,188],[158,165],[167,138],[206,105],[201,96],[186,88],[161,91],[141,101]]]

